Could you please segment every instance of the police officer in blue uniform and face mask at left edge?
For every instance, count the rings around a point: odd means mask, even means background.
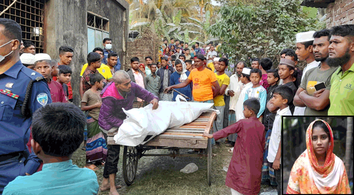
[[[32,114],[52,102],[40,73],[20,61],[21,27],[0,19],[0,194],[17,176],[32,175],[40,159],[29,153]]]

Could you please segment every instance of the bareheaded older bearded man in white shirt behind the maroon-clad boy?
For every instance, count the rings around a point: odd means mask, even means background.
[[[225,95],[230,96],[229,102],[229,123],[228,126],[236,123],[236,103],[240,93],[245,86],[241,82],[241,73],[243,68],[246,67],[246,62],[239,61],[236,64],[236,68],[234,70],[233,75],[230,77],[230,84],[225,90]],[[236,73],[236,74],[235,74]],[[228,136],[229,143],[226,144],[228,147],[233,147],[236,141],[236,134],[231,134]]]

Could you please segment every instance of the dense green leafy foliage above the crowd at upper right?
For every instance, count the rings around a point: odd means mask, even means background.
[[[219,14],[221,20],[210,26],[208,32],[226,42],[219,51],[246,61],[268,57],[276,62],[282,49],[294,48],[296,33],[324,27],[317,19],[307,17],[297,0],[224,6]]]

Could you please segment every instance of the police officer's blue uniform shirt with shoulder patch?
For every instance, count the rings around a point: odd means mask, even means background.
[[[23,116],[21,107],[28,83],[39,77],[42,77],[40,73],[26,68],[21,61],[0,75],[0,89],[14,94],[12,98],[0,93],[0,155],[24,151],[29,155],[25,165],[28,174],[37,171],[40,159],[33,153],[29,154],[27,149],[32,117]],[[52,98],[46,81],[34,81],[27,102],[29,114],[32,116],[38,108],[49,103],[52,103]]]

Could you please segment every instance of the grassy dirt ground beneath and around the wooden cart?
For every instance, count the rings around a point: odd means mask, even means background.
[[[226,172],[223,167],[229,167],[232,153],[229,147],[221,144],[213,148],[217,154],[212,158],[212,183],[207,184],[207,158],[206,157],[176,157],[169,156],[144,156],[138,162],[138,170],[134,183],[126,186],[123,179],[122,160],[123,146],[118,165],[116,184],[123,186],[118,190],[120,195],[231,195],[230,189],[225,185]],[[150,150],[146,154],[169,154],[168,150]],[[187,154],[187,150],[180,150]],[[191,174],[181,173],[189,163],[195,163],[198,171]],[[79,167],[85,165],[85,152],[81,147],[73,155],[73,163]],[[98,183],[102,183],[103,167],[96,171]],[[261,192],[276,188],[261,185]],[[99,192],[98,195],[108,195],[108,192]]]

